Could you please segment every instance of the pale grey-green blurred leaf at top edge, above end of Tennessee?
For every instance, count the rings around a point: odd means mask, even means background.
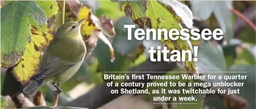
[[[229,41],[234,37],[231,12],[232,1],[190,1],[193,14],[202,19],[207,19],[214,13],[219,25],[225,35],[225,40]]]

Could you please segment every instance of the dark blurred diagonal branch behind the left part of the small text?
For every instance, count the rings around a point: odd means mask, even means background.
[[[151,75],[164,75],[167,72],[165,71],[171,71],[176,68],[176,63],[168,63],[168,62],[151,62],[150,60],[147,60],[145,63],[130,69],[130,73],[128,74],[134,74],[136,75],[143,75],[143,74],[151,74]],[[137,71],[137,72],[135,72]],[[144,72],[157,72],[157,73],[142,73],[139,71]],[[125,80],[126,83],[134,81],[135,83],[150,83],[152,80],[149,79],[140,79],[140,80]],[[109,101],[112,101],[115,98],[118,98],[119,96],[123,94],[111,94],[110,91],[113,89],[120,90],[121,87],[107,87],[106,83],[103,83],[91,91],[87,92],[86,94],[78,97],[77,99],[68,102],[67,104],[64,104],[64,106],[76,106],[76,107],[87,107],[90,109],[96,109],[104,104],[108,103]],[[127,89],[134,89],[133,87],[128,87]],[[141,89],[141,88],[136,88]]]

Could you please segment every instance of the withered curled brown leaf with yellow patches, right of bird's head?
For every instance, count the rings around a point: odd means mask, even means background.
[[[88,58],[92,50],[95,49],[95,47],[97,46],[97,41],[98,39],[100,39],[109,46],[109,50],[111,53],[111,62],[113,62],[114,50],[111,43],[105,36],[107,35],[111,38],[115,36],[112,20],[106,15],[102,15],[100,18],[98,18],[97,16],[92,14],[90,7],[87,6],[83,6],[81,8],[77,19],[71,18],[71,20],[78,21],[83,18],[86,18],[86,20],[81,25],[81,34],[83,36],[83,40],[86,44],[87,49],[85,60]]]

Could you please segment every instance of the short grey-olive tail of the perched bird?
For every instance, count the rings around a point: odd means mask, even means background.
[[[31,81],[28,86],[23,89],[24,93],[28,93],[29,96],[34,96],[36,92],[39,90],[39,85],[37,85],[37,81]]]

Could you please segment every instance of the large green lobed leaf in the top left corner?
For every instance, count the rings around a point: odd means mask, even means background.
[[[32,17],[39,25],[46,23],[44,12],[33,1],[14,1],[1,9],[2,67],[14,66],[24,52],[31,37],[28,17]]]

